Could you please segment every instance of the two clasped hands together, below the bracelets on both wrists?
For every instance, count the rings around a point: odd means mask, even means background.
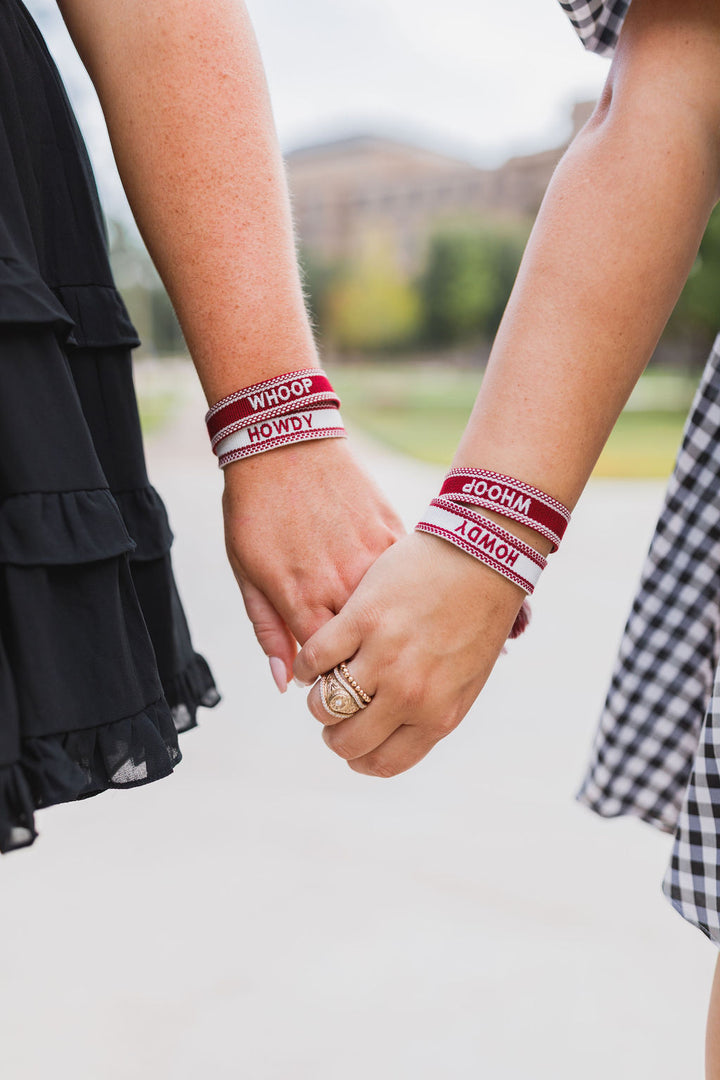
[[[416,765],[481,690],[521,591],[436,537],[403,536],[341,440],[230,465],[223,513],[256,636],[288,678],[314,684],[326,744],[356,772]],[[372,702],[338,719],[316,680],[342,661]]]

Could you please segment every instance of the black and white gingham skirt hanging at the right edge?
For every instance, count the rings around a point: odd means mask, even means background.
[[[576,798],[674,833],[663,892],[720,947],[720,336]]]

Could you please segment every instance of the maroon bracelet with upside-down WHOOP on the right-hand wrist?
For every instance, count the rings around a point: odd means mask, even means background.
[[[536,487],[488,469],[451,469],[440,496],[494,510],[546,537],[557,551],[570,521],[570,511]]]

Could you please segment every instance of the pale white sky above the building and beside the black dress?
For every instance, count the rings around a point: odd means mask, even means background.
[[[26,3],[65,78],[106,207],[124,215],[99,105],[55,2]],[[597,96],[608,69],[583,51],[557,0],[248,0],[248,8],[286,149],[378,132],[494,164],[560,141],[570,105]]]

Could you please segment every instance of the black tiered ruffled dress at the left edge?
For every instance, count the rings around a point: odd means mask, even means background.
[[[149,783],[218,701],[148,482],[87,153],[19,0],[0,0],[0,851],[39,807]]]

